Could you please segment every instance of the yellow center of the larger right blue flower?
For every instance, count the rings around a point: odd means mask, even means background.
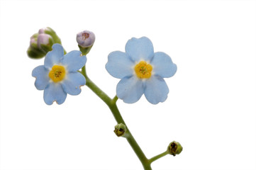
[[[140,79],[149,79],[151,77],[152,65],[145,61],[141,61],[134,67],[135,73]]]

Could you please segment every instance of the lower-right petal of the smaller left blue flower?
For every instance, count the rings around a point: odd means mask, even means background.
[[[85,78],[79,72],[69,73],[62,81],[62,87],[67,94],[78,95],[81,93],[80,86],[85,85]]]

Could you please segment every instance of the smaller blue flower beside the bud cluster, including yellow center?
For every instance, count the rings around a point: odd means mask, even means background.
[[[36,78],[36,89],[44,90],[46,104],[51,105],[54,101],[62,104],[67,94],[80,94],[80,86],[85,85],[85,78],[77,70],[85,62],[87,57],[82,52],[74,50],[64,55],[62,45],[52,45],[52,51],[45,56],[45,64],[35,67],[32,72],[32,76]]]

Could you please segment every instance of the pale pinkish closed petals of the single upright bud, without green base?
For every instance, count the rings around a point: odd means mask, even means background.
[[[77,33],[77,43],[81,47],[91,47],[94,45],[95,35],[89,30]]]

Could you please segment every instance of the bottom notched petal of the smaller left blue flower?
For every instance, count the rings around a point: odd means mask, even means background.
[[[62,104],[66,100],[67,94],[63,91],[60,83],[51,82],[43,91],[43,99],[45,103],[51,105],[54,101]]]

